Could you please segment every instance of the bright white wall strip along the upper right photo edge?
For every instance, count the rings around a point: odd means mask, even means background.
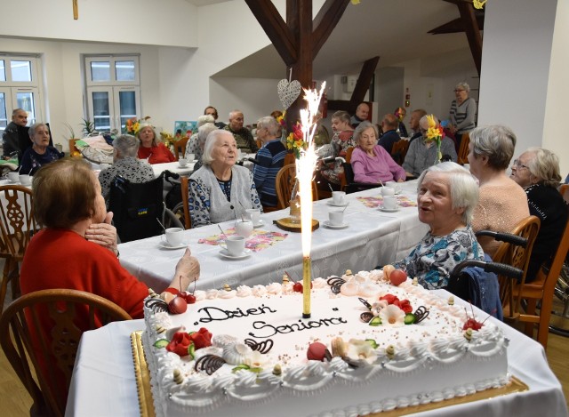
[[[567,97],[569,97],[569,82],[567,82],[569,47],[567,47],[567,39],[569,39],[569,2],[564,0],[557,2],[557,16],[549,66],[548,96],[543,122],[543,147],[552,150],[559,156],[561,176],[564,180],[567,172],[569,172],[565,138]]]

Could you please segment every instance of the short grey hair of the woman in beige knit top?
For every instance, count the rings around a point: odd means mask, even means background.
[[[494,170],[508,168],[516,148],[516,134],[509,127],[501,124],[477,127],[469,136],[475,156],[487,156],[488,165]]]

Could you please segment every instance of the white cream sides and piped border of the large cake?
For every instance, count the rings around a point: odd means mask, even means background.
[[[363,285],[365,294],[369,296],[370,281],[375,281],[378,277],[381,278],[381,273],[378,274],[377,271],[372,273],[360,272],[357,277],[358,281],[361,282],[360,284]],[[372,279],[369,279],[370,277]],[[444,300],[439,299],[422,287],[412,285],[410,280],[398,288],[392,285],[371,284],[377,286],[377,293],[379,294],[407,295],[413,299],[415,304],[417,300],[421,300],[429,309],[440,311],[440,317],[448,317],[451,324],[463,323],[466,319],[463,308],[449,306]],[[341,305],[342,302],[350,299],[332,294],[325,279],[322,278],[313,281],[313,288],[313,294],[319,296],[313,297],[313,300],[316,299],[316,303],[323,305],[326,303],[335,305],[337,303]],[[196,291],[194,295],[196,296],[196,304],[188,306],[188,309],[195,310],[200,304],[206,305],[208,301],[215,300],[222,300],[225,303],[256,299],[270,304],[271,301],[281,302],[284,300],[288,302],[291,300],[288,299],[289,297],[301,297],[301,294],[293,293],[292,284],[281,285],[277,283],[253,287],[240,285],[232,291]],[[342,314],[347,313],[344,310]],[[359,316],[359,310],[354,309],[354,314]],[[501,330],[491,324],[487,324],[480,331],[474,332],[470,341],[461,332],[446,334],[445,337],[443,335],[430,337],[429,341],[422,341],[421,336],[415,336],[416,339],[398,344],[392,357],[387,354],[385,346],[380,346],[375,349],[375,360],[372,364],[360,360],[357,368],[349,366],[340,357],[333,357],[330,362],[304,360],[301,364],[283,366],[283,374],[279,376],[273,374],[272,364],[267,369],[263,368],[260,373],[245,370],[239,370],[235,373],[218,371],[208,376],[204,373],[192,372],[194,362],[188,357],[179,357],[165,349],[156,349],[152,346],[156,340],[164,339],[164,333],[156,332],[158,327],[172,329],[179,325],[180,320],[187,322],[186,327],[189,327],[188,324],[194,320],[193,314],[170,316],[167,313],[155,313],[145,307],[145,319],[147,332],[143,336],[143,344],[151,370],[152,391],[157,415],[207,413],[212,409],[240,402],[263,404],[282,394],[313,396],[338,385],[373,384],[385,380],[386,377],[395,378],[398,385],[408,387],[409,394],[407,395],[405,392],[399,392],[396,397],[387,395],[379,401],[370,401],[363,405],[350,405],[343,410],[334,410],[330,413],[317,413],[321,416],[342,415],[342,413],[343,415],[365,415],[366,413],[379,413],[452,397],[462,397],[478,390],[503,386],[509,381],[506,360],[507,341],[504,339]],[[207,325],[200,326],[207,327]],[[448,325],[442,325],[445,332],[447,332],[446,327]],[[417,331],[419,332],[420,329]],[[291,341],[293,340],[294,338],[291,338]],[[292,349],[292,347],[289,348]],[[204,351],[200,353],[200,350]],[[222,349],[212,347],[200,350],[196,351],[197,357],[210,352],[220,352]],[[306,357],[305,353],[304,357]],[[477,368],[484,371],[477,371]],[[174,369],[182,371],[183,381],[180,384],[172,378]],[[444,378],[453,381],[452,386],[448,387],[443,384],[443,386],[437,387],[430,383],[421,385],[421,381],[431,380],[433,369],[436,370],[434,374],[437,375],[437,380]],[[492,372],[493,376],[486,378],[482,375],[484,372]],[[473,374],[470,375],[470,373]],[[401,378],[404,378],[405,381]],[[407,379],[409,381],[406,381]],[[414,382],[414,380],[419,380],[419,382]]]

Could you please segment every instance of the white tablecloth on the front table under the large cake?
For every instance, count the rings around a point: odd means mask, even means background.
[[[445,299],[449,295],[444,290],[439,290],[437,293]],[[485,316],[479,310],[477,313]],[[500,325],[509,338],[509,372],[524,381],[529,390],[489,400],[449,406],[418,415],[437,417],[567,415],[561,385],[549,369],[541,345],[493,317],[490,319]],[[99,330],[84,333],[76,356],[66,416],[140,415],[130,334],[143,329],[142,320],[132,320],[113,323]],[[346,397],[346,403],[349,405],[349,388],[346,389]],[[370,398],[370,401],[372,400],[373,398]],[[251,409],[251,415],[256,415],[254,408]],[[291,411],[276,409],[273,415],[290,416]]]

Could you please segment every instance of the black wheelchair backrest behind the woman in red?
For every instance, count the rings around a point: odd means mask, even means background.
[[[164,173],[164,172],[163,172]],[[164,175],[135,183],[117,176],[111,181],[108,209],[122,243],[158,236],[164,224]],[[156,220],[157,219],[157,220]]]

